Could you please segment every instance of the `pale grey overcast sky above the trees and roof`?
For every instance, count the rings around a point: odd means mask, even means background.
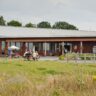
[[[23,25],[66,21],[80,30],[96,31],[96,0],[0,0],[0,16]]]

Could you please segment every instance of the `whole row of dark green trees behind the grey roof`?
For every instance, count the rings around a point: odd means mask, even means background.
[[[11,20],[6,23],[3,16],[0,16],[0,25],[1,26],[16,26],[16,27],[30,27],[30,28],[51,28],[51,29],[68,29],[68,30],[78,30],[78,28],[65,21],[58,21],[55,24],[51,25],[48,21],[42,21],[38,24],[33,24],[31,22],[22,26],[22,23],[17,20]]]

